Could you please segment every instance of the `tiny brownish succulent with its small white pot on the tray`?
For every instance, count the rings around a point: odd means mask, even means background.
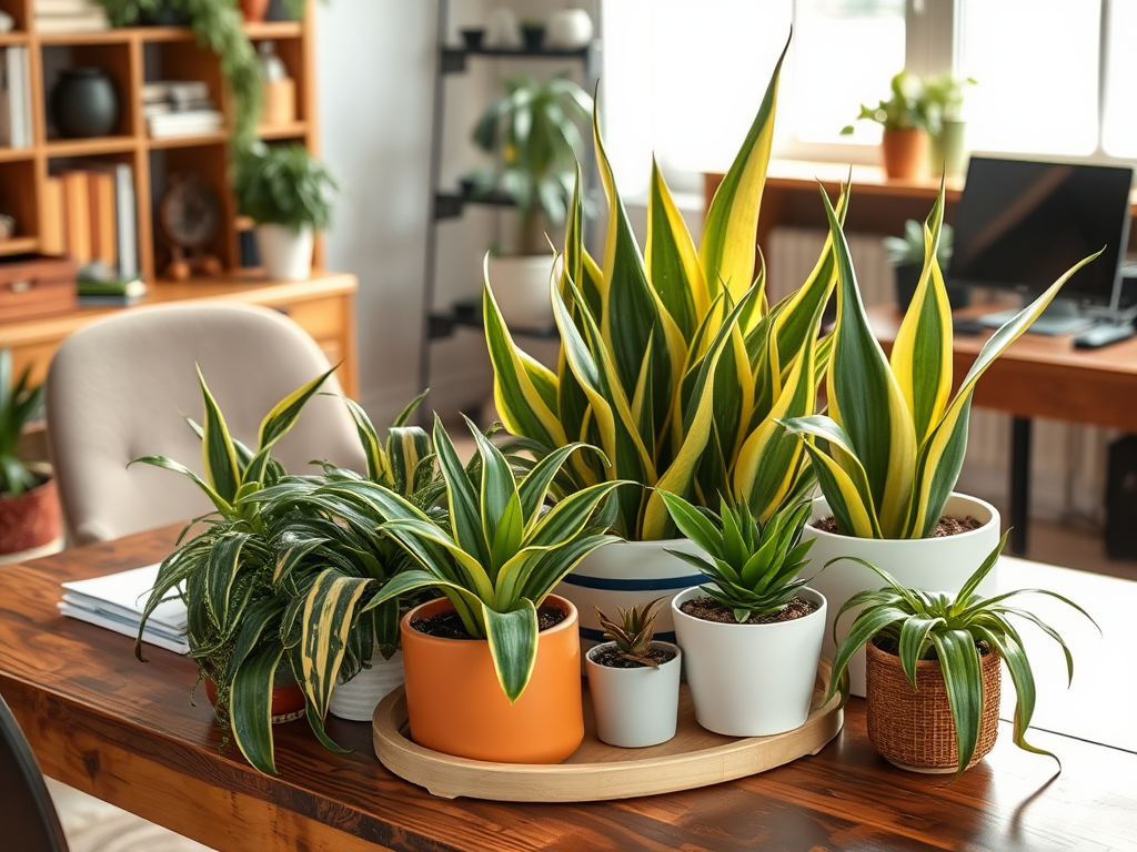
[[[641,749],[675,735],[683,658],[678,645],[654,641],[664,600],[617,608],[619,621],[596,613],[607,641],[586,654],[584,666],[596,735],[609,745]]]

